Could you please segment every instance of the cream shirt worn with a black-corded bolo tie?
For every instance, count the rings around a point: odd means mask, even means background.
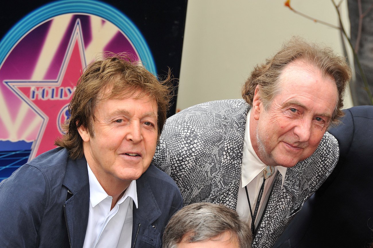
[[[251,210],[254,213],[256,206],[258,193],[263,183],[263,173],[262,170],[266,167],[256,152],[254,151],[253,145],[251,145],[250,139],[250,113],[251,110],[247,113],[246,117],[246,128],[245,128],[245,137],[244,137],[244,150],[242,154],[242,169],[241,169],[241,181],[238,189],[237,197],[237,208],[236,211],[242,220],[246,221],[251,225],[251,214],[250,208],[247,201],[247,195],[245,186],[247,187],[248,195],[250,198]],[[269,198],[269,193],[271,192],[273,183],[275,182],[277,172],[280,172],[282,175],[282,184],[285,180],[286,167],[275,166],[275,173],[270,178],[266,179],[264,183],[263,196],[259,203],[258,214],[255,220],[255,226],[258,225],[261,216],[264,212],[265,205]]]

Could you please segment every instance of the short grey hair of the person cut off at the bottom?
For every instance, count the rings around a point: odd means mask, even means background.
[[[236,211],[222,204],[194,203],[179,210],[163,233],[163,248],[177,248],[187,235],[186,242],[201,242],[224,232],[237,238],[240,248],[251,248],[252,233]]]

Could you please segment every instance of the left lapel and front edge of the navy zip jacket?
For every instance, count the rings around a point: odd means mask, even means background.
[[[64,213],[70,246],[83,247],[90,204],[87,161],[84,157],[78,160],[68,160],[63,185],[68,189]]]

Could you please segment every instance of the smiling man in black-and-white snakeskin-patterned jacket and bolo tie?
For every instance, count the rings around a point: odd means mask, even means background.
[[[185,205],[228,205],[250,223],[253,247],[272,247],[338,161],[326,131],[342,116],[350,78],[343,57],[295,37],[254,68],[244,100],[198,104],[167,119],[154,164]]]

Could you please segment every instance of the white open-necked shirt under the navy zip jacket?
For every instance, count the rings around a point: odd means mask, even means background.
[[[88,166],[88,163],[87,163]],[[137,205],[136,180],[133,180],[112,210],[108,195],[88,166],[90,206],[83,248],[124,247],[132,241],[132,208]]]

